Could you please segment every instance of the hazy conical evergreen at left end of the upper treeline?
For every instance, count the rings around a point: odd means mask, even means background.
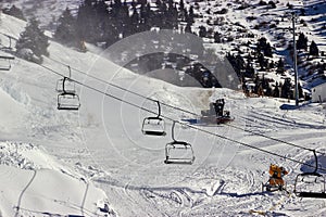
[[[76,21],[68,8],[62,13],[59,18],[59,26],[54,33],[54,39],[62,43],[72,46],[78,44],[76,33]]]

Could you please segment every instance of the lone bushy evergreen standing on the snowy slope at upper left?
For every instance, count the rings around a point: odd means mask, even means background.
[[[30,50],[34,55],[41,60],[41,55],[49,55],[47,49],[49,46],[48,37],[39,28],[39,22],[33,17],[28,22],[25,30],[21,34],[16,42],[17,53],[23,54],[23,50]],[[23,56],[30,59],[32,56]]]

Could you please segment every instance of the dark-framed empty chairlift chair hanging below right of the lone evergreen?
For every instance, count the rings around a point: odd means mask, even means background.
[[[79,110],[79,97],[74,92],[65,90],[65,82],[70,78],[64,77],[62,81],[62,92],[58,94],[58,110]]]

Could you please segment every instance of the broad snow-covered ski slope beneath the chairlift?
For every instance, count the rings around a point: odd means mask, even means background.
[[[23,28],[3,14],[1,25],[11,26],[7,34],[15,37]],[[104,216],[105,203],[110,216],[326,215],[325,200],[261,191],[271,163],[290,171],[285,177],[290,192],[296,176],[310,168],[242,145],[311,163],[312,152],[253,132],[325,153],[325,105],[286,111],[279,107],[288,102],[278,99],[179,88],[139,76],[109,61],[105,53],[79,53],[53,41],[49,52],[42,66],[15,59],[10,72],[0,72],[0,216]],[[83,84],[77,85],[78,112],[57,110],[61,76],[46,67],[67,76],[67,66],[60,63],[68,64],[72,78]],[[165,137],[142,135],[142,119],[154,114],[139,106],[155,113],[155,103],[108,82],[197,114],[210,101],[225,98],[226,110],[235,116],[231,125],[251,132],[222,125],[200,127],[221,136],[215,137],[177,124],[175,136],[192,144],[196,161],[165,165],[172,122],[166,119]],[[162,114],[175,120],[189,117],[166,106]],[[323,167],[325,158],[319,156]]]

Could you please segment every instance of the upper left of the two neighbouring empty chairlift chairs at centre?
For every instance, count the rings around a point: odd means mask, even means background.
[[[149,136],[165,136],[165,122],[161,117],[161,105],[160,102],[156,101],[158,103],[158,116],[154,117],[146,117],[142,120],[142,126],[141,126],[141,131],[143,135],[149,135]]]

